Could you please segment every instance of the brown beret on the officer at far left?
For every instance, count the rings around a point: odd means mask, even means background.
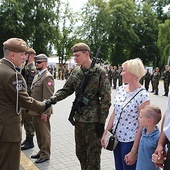
[[[29,48],[27,43],[20,38],[10,38],[3,45],[5,49],[16,53],[26,52]]]

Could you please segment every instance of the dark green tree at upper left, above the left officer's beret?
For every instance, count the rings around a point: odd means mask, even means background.
[[[37,53],[49,55],[54,37],[54,8],[58,1],[2,1],[0,4],[1,45],[10,37],[20,37]]]

